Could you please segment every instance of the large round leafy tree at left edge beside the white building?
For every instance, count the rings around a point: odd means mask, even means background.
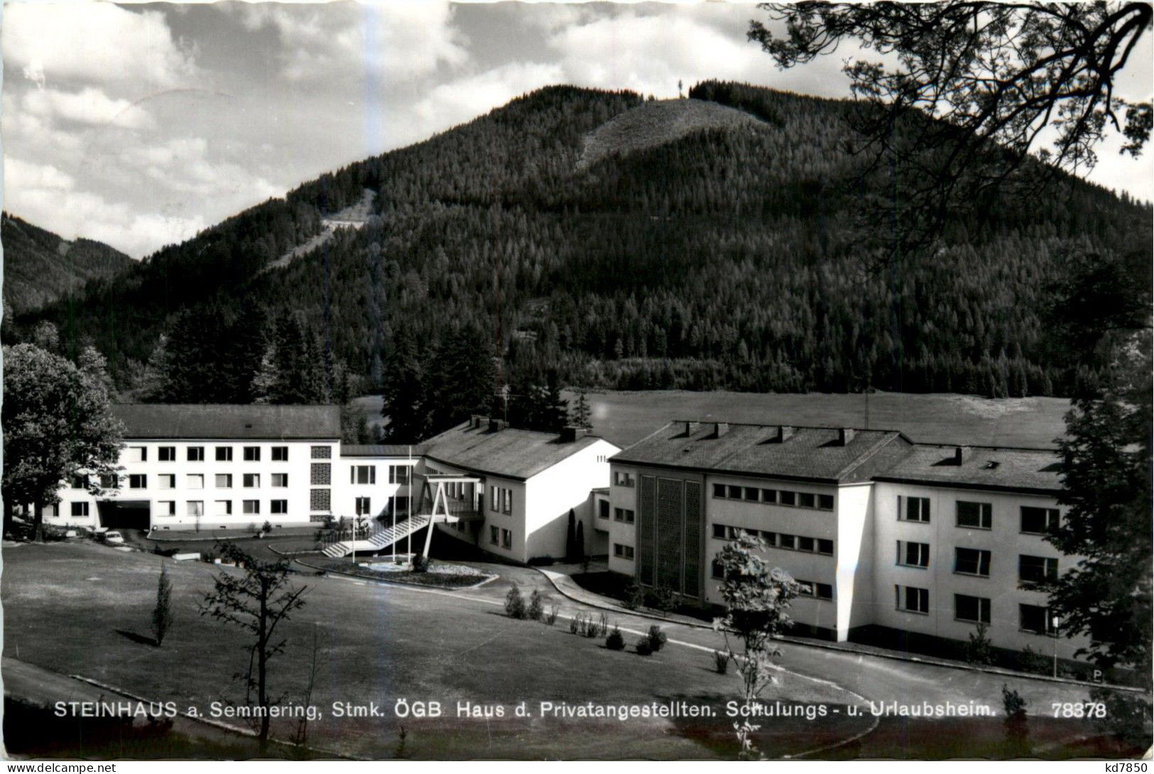
[[[33,506],[33,534],[44,536],[44,508],[59,502],[61,481],[115,472],[123,427],[112,415],[104,359],[82,353],[80,367],[32,344],[3,347],[5,529],[13,504]]]

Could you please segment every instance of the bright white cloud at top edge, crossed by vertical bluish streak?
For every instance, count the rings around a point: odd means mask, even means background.
[[[283,75],[292,81],[407,80],[467,59],[448,2],[239,6],[249,30],[276,29]]]

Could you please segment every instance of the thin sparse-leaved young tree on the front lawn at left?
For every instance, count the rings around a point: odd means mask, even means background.
[[[269,739],[269,709],[280,704],[269,694],[269,667],[287,645],[286,639],[278,638],[277,628],[305,607],[308,586],[292,585],[288,563],[284,559],[257,559],[228,541],[218,542],[217,553],[222,559],[240,568],[241,573],[222,570],[213,589],[204,595],[200,611],[202,616],[238,626],[252,638],[245,646],[248,666],[235,677],[245,683],[246,706],[255,705],[260,709],[254,713],[258,716],[254,726],[264,747]]]

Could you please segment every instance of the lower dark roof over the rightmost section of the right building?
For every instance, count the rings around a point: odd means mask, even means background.
[[[958,449],[962,452],[960,464]],[[962,489],[1054,494],[1062,489],[1059,461],[1058,452],[1052,449],[917,444],[912,453],[874,478]]]

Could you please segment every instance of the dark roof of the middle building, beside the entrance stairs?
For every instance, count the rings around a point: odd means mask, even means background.
[[[426,441],[425,456],[434,461],[478,473],[525,480],[590,446],[600,437],[580,436],[564,442],[555,433],[518,428],[490,430],[464,422]]]

